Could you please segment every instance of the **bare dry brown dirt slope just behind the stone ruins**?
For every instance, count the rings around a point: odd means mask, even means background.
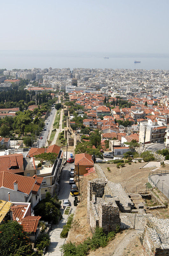
[[[99,164],[102,167],[109,181],[120,183],[122,187],[127,189],[129,193],[141,192],[146,190],[148,182],[148,174],[152,168],[141,168],[145,163],[125,164],[125,167],[118,169],[116,164]],[[110,168],[108,172],[107,167]]]

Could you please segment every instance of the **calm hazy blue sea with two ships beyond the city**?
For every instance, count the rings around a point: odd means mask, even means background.
[[[109,57],[104,59],[103,57]],[[141,63],[134,64],[134,60]],[[0,68],[130,68],[169,70],[169,56],[68,51],[0,51]]]

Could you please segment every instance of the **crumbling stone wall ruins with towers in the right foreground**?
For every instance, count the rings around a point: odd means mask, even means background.
[[[169,219],[146,214],[139,193],[128,195],[120,184],[105,178],[90,180],[87,210],[92,231],[96,226],[102,227],[106,234],[115,231],[117,226],[135,228],[143,245],[141,256],[169,256]]]

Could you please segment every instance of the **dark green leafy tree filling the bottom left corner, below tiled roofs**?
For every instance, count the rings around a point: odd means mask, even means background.
[[[0,256],[32,255],[32,253],[32,244],[22,225],[11,220],[0,225]]]

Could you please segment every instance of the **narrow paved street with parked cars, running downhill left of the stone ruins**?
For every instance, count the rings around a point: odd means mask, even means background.
[[[73,167],[74,164],[66,164],[62,169],[60,174],[60,192],[58,198],[61,200],[61,212],[63,214],[63,199],[70,200],[70,206],[72,207],[71,213],[74,213],[76,206],[74,206],[74,197],[70,196],[71,185],[69,184],[70,178],[70,168]],[[67,220],[68,215],[63,214],[62,220],[60,220],[58,225],[53,225],[52,230],[49,232],[49,236],[51,239],[51,244],[48,247],[46,256],[60,256],[60,246],[64,243],[65,239],[60,238],[60,233],[62,231],[63,226],[65,225],[65,221]]]

